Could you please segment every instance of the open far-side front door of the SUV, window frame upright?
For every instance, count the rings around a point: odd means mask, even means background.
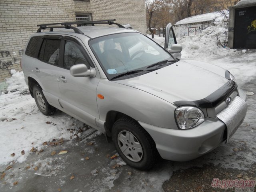
[[[174,30],[172,28],[172,24],[169,23],[167,26],[166,26],[166,30],[165,30],[165,41],[164,41],[164,48],[170,52],[175,58],[178,58],[180,59],[181,58],[181,52],[178,52],[178,53],[172,53],[172,49],[171,49],[171,46],[173,44],[177,44],[177,40],[176,40],[176,37],[175,37],[175,33],[174,33]]]

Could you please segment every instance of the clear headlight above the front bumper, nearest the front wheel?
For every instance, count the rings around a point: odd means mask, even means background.
[[[175,118],[180,129],[189,129],[204,122],[204,113],[199,108],[183,106],[176,108]]]

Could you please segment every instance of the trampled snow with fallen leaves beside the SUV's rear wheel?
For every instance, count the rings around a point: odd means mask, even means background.
[[[77,134],[76,131],[67,131],[68,128],[84,128],[84,136],[96,131],[60,111],[52,116],[44,116],[29,94],[23,72],[12,70],[12,77],[6,82],[8,94],[0,95],[0,165],[12,161],[23,162],[32,147],[39,152],[47,146],[43,142],[61,138],[68,140]],[[93,134],[97,135],[98,132]],[[78,136],[82,136],[82,133]],[[24,155],[21,154],[22,150]]]

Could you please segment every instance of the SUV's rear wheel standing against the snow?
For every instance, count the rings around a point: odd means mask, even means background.
[[[52,115],[56,111],[56,108],[51,106],[48,101],[46,100],[42,88],[36,84],[33,87],[33,95],[34,99],[36,101],[36,105],[38,106],[38,109],[42,112],[44,115]]]

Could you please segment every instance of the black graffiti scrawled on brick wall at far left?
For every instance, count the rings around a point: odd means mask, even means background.
[[[9,50],[0,51],[0,70],[9,70],[16,61],[20,60],[24,50],[19,50],[19,56],[16,52]]]

